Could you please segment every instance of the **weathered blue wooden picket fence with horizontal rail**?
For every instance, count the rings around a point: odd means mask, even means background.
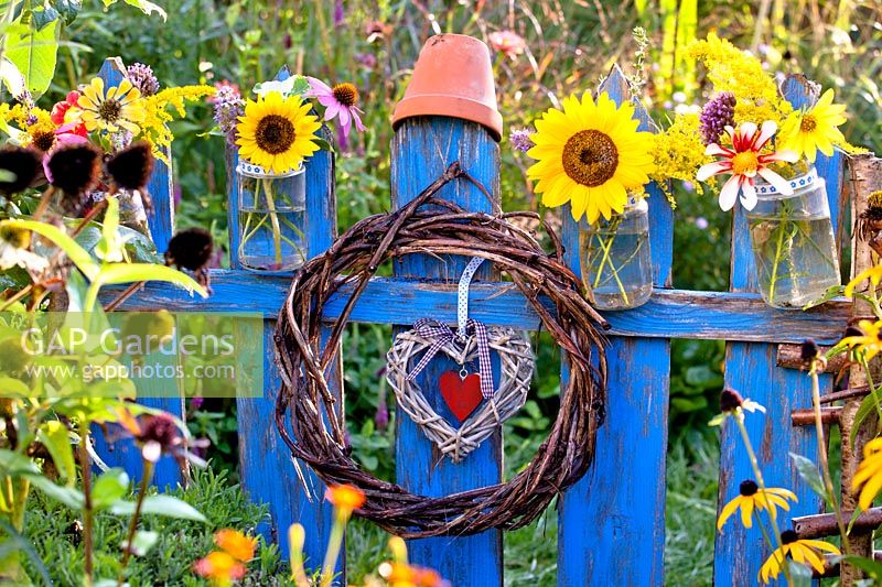
[[[105,75],[108,72],[105,70]],[[286,76],[283,70],[280,76]],[[108,76],[114,79],[112,76]],[[619,68],[602,84],[601,90],[619,102],[630,99],[627,85]],[[815,97],[805,84],[790,78],[785,85],[787,98],[802,106]],[[645,130],[654,124],[638,108]],[[442,197],[472,210],[494,211],[498,204],[498,145],[480,126],[450,118],[406,120],[392,141],[392,208],[409,202],[452,161],[480,180],[493,194],[494,202],[464,182],[449,184]],[[235,156],[227,160],[229,191],[235,194],[232,170]],[[820,157],[819,174],[827,181],[835,226],[841,221],[840,202],[842,162],[839,156]],[[170,209],[169,170],[157,172],[153,199],[158,210]],[[160,185],[161,184],[161,185]],[[692,292],[671,289],[674,256],[674,214],[654,186],[649,189],[652,209],[650,238],[656,289],[644,306],[609,313],[612,324],[607,348],[607,418],[600,430],[594,463],[578,485],[559,503],[558,584],[583,585],[662,585],[664,581],[665,542],[665,456],[667,450],[667,412],[670,374],[670,339],[725,339],[725,382],[768,410],[765,416],[747,420],[753,444],[766,481],[793,488],[798,497],[789,515],[820,511],[819,501],[799,481],[789,465],[787,452],[815,455],[815,438],[808,430],[790,425],[790,411],[810,405],[808,378],[795,370],[776,366],[778,344],[818,343],[838,339],[849,315],[845,301],[833,301],[809,312],[782,312],[767,307],[753,283],[753,260],[746,224],[739,210],[733,219],[731,292]],[[713,197],[711,195],[704,197]],[[230,240],[237,238],[237,209],[230,197]],[[336,233],[334,197],[334,156],[320,152],[306,167],[306,209],[310,254],[327,249]],[[579,271],[577,258],[578,226],[563,210],[562,238],[567,259]],[[154,230],[160,248],[169,232],[166,225]],[[168,228],[171,224],[168,224]],[[839,235],[841,238],[842,235]],[[235,247],[234,247],[235,250]],[[396,268],[394,278],[377,278],[363,293],[351,319],[363,323],[409,326],[424,316],[455,319],[456,294],[451,287],[459,279],[463,259],[440,262],[413,256]],[[419,276],[420,280],[415,278]],[[426,278],[439,286],[427,284]],[[540,322],[530,304],[508,284],[499,283],[490,267],[482,268],[470,295],[471,315],[487,324],[537,330]],[[123,309],[258,312],[265,318],[263,344],[267,349],[266,388],[262,399],[238,401],[240,467],[245,488],[254,499],[270,504],[271,521],[267,535],[287,553],[288,525],[299,521],[308,531],[306,555],[313,565],[322,559],[330,528],[329,510],[321,501],[321,482],[308,476],[310,501],[294,474],[291,456],[279,442],[272,425],[272,405],[279,388],[271,349],[273,320],[286,297],[289,279],[260,275],[238,270],[215,271],[211,300],[194,300],[181,291],[148,284],[133,295]],[[443,286],[441,286],[443,284]],[[108,294],[112,295],[112,293]],[[342,289],[326,305],[330,323],[340,315],[348,295]],[[549,308],[551,306],[549,305]],[[345,349],[343,352],[345,357]],[[340,366],[329,373],[332,389],[343,398]],[[566,370],[561,373],[567,377]],[[831,381],[822,380],[822,392]],[[437,398],[432,399],[437,401]],[[155,401],[175,407],[175,402]],[[341,402],[342,405],[342,402]],[[462,464],[432,458],[431,445],[407,417],[397,418],[397,480],[411,491],[440,496],[470,489],[502,479],[501,435],[486,441]],[[736,431],[722,431],[720,503],[738,492],[741,480],[752,477]],[[104,447],[106,449],[106,447]],[[119,452],[117,453],[119,454]],[[118,460],[119,461],[119,460]],[[132,463],[121,461],[135,468]],[[137,469],[135,469],[137,470]],[[160,483],[174,479],[164,472]],[[779,523],[788,525],[782,512]],[[504,580],[502,534],[485,532],[475,536],[449,536],[413,541],[413,562],[437,568],[455,586],[501,585]],[[718,585],[755,585],[756,572],[767,556],[757,529],[745,531],[730,524],[716,544]]]

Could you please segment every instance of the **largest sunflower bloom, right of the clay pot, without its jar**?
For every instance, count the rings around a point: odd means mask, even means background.
[[[563,110],[549,109],[536,121],[527,154],[538,160],[527,174],[546,206],[569,202],[574,220],[587,214],[594,224],[621,213],[628,189],[649,181],[653,169],[648,132],[637,132],[634,107],[615,102],[604,93],[596,104],[585,91],[563,100]]]

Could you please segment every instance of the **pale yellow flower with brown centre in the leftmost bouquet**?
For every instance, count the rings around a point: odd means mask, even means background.
[[[80,119],[88,131],[117,132],[125,129],[132,134],[141,131],[138,127],[144,117],[141,91],[128,79],[120,81],[119,86],[107,88],[105,94],[104,80],[95,77],[83,89],[76,105],[83,110]]]

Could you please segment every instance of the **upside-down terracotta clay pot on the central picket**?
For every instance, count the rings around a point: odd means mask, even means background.
[[[417,116],[447,116],[483,124],[497,141],[503,117],[496,109],[496,87],[490,50],[464,34],[430,37],[420,51],[405,97],[395,107],[392,128]]]

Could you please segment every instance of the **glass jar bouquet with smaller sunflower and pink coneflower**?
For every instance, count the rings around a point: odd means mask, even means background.
[[[214,98],[218,131],[238,148],[237,258],[246,269],[290,271],[306,259],[304,162],[330,149],[318,134],[322,123],[309,99],[325,108],[325,120],[338,119],[345,137],[353,124],[365,130],[358,91],[352,84],[332,88],[294,75],[258,84],[254,93],[255,99],[243,100],[226,84]]]

